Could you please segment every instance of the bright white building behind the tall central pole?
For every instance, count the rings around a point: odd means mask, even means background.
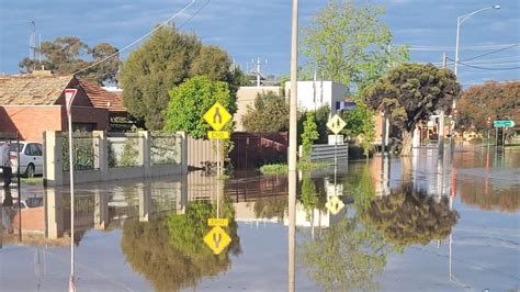
[[[328,105],[336,113],[336,104],[344,101],[348,88],[332,81],[298,81],[298,109],[314,111]],[[285,97],[291,96],[291,81],[285,82]]]

